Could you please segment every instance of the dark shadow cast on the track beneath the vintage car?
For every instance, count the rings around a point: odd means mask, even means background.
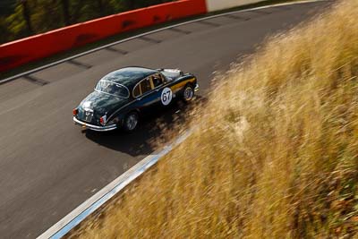
[[[205,98],[197,97],[204,101]],[[94,132],[85,131],[86,137],[99,145],[114,149],[132,157],[149,155],[158,149],[158,141],[165,142],[168,140],[167,132],[170,136],[175,137],[175,129],[183,127],[194,104],[183,104],[175,102],[170,107],[154,112],[152,115],[146,115],[141,119],[141,124],[135,132],[128,133],[121,130],[113,132]],[[176,128],[179,127],[179,128]]]

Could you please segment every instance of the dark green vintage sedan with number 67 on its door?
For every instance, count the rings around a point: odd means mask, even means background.
[[[176,69],[125,67],[108,73],[94,91],[73,109],[73,121],[83,129],[112,131],[136,129],[141,115],[181,98],[191,101],[199,90],[191,73]]]

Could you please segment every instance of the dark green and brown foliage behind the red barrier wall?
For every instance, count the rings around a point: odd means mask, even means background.
[[[2,0],[0,43],[173,0]]]

